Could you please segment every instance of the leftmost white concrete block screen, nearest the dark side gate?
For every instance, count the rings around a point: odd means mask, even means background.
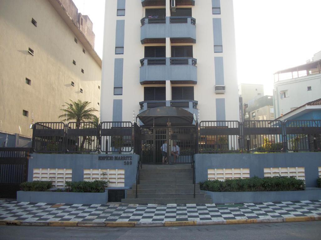
[[[32,180],[52,181],[55,188],[65,188],[65,181],[72,181],[72,169],[34,168]]]

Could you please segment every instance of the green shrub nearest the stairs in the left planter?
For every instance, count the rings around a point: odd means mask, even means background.
[[[103,193],[105,192],[105,187],[107,187],[107,181],[94,180],[89,181],[79,181],[79,182],[68,182],[66,181],[67,192],[75,193]]]

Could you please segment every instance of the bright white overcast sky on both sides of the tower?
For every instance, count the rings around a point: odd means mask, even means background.
[[[73,1],[93,22],[101,58],[105,0]],[[238,83],[264,84],[272,95],[273,73],[321,51],[320,9],[320,0],[234,0]]]

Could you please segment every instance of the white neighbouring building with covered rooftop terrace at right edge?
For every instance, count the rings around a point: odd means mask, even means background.
[[[278,118],[295,108],[321,98],[321,52],[312,62],[278,71],[274,74],[273,101]]]

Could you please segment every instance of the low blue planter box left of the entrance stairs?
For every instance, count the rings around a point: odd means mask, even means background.
[[[106,204],[108,202],[108,190],[104,193],[17,191],[17,202]]]

